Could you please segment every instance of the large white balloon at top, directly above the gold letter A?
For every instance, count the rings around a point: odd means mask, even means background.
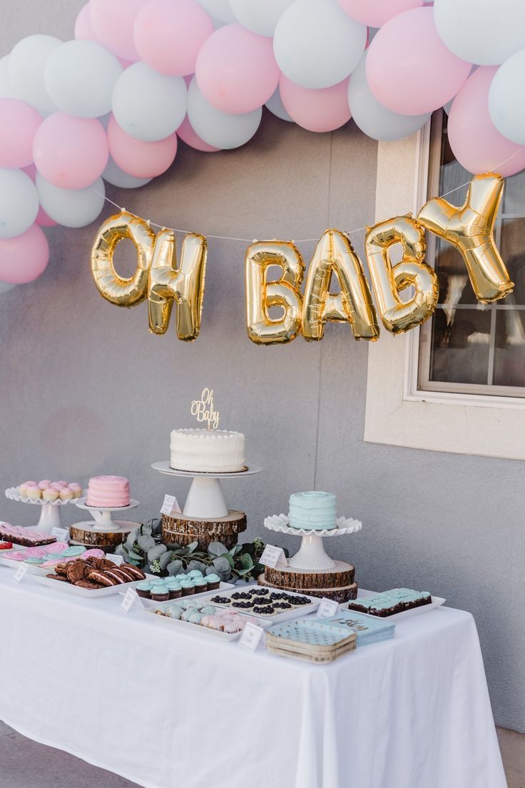
[[[295,0],[277,23],[273,51],[292,82],[330,87],[355,69],[366,40],[366,25],[350,19],[337,0]]]

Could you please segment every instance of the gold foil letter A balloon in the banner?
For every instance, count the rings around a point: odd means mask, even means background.
[[[332,295],[332,274],[340,292]],[[348,322],[354,339],[376,340],[379,326],[363,266],[349,237],[340,230],[321,236],[310,263],[306,280],[302,333],[305,340],[320,340],[327,320]]]

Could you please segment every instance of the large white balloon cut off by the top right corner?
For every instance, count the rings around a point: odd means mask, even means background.
[[[443,43],[458,58],[499,65],[525,46],[523,0],[434,0]]]

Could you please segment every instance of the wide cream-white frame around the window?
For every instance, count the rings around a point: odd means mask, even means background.
[[[412,212],[427,199],[430,121],[394,143],[378,143],[375,221]],[[453,202],[453,195],[451,196]],[[435,452],[525,459],[525,399],[421,391],[419,329],[382,329],[368,351],[364,440]]]

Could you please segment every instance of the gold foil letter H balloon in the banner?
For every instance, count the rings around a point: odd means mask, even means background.
[[[179,340],[191,341],[198,337],[201,330],[207,248],[204,236],[187,232],[183,240],[180,266],[176,268],[175,233],[172,230],[161,230],[157,234],[148,292],[150,329],[153,333],[166,333],[173,302],[176,301]]]

